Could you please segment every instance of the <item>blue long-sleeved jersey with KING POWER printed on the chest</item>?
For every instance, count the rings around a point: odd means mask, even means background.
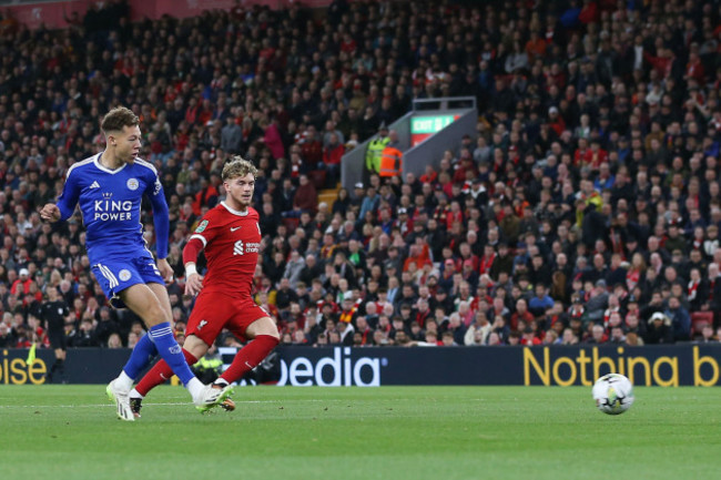
[[[68,219],[80,204],[91,264],[100,258],[133,256],[145,249],[141,202],[145,195],[153,207],[156,255],[167,256],[170,221],[163,185],[155,167],[144,160],[110,170],[93,155],[68,170],[58,198],[61,219]]]

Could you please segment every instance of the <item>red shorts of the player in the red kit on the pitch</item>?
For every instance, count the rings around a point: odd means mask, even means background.
[[[227,328],[243,339],[248,325],[263,317],[270,315],[253,298],[236,299],[223,294],[201,292],[187,319],[185,335],[195,335],[206,345],[213,345],[223,328]]]

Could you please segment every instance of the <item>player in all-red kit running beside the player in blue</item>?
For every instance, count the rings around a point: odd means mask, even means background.
[[[255,368],[280,341],[275,321],[251,294],[261,248],[258,214],[251,207],[256,173],[255,166],[240,156],[223,167],[226,198],[207,212],[183,249],[185,294],[197,295],[183,345],[187,364],[203,357],[223,328],[250,340],[215,380],[213,386],[221,389]],[[195,268],[203,249],[207,258],[205,277]],[[138,417],[144,396],[171,376],[172,370],[161,360],[135,386],[130,399]],[[234,408],[230,399],[222,406]]]

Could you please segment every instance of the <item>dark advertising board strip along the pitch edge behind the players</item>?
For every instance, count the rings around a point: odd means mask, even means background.
[[[54,361],[39,349],[0,350],[0,385],[44,384]],[[236,350],[221,348],[227,368]],[[68,350],[68,384],[104,384],[122,368],[130,350]],[[378,387],[383,385],[546,385],[591,386],[608,372],[640,386],[721,385],[721,344],[676,346],[280,347],[243,384],[280,386]]]

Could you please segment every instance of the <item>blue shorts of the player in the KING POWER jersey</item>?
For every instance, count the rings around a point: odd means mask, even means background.
[[[124,308],[120,293],[136,284],[156,283],[165,285],[155,261],[148,252],[128,258],[103,258],[91,265],[95,279],[115,308]]]

